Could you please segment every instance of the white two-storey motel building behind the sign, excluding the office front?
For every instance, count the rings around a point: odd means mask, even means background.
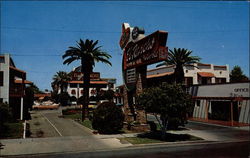
[[[169,65],[147,70],[147,86],[157,86],[162,82],[171,83],[174,68],[174,65]],[[184,77],[184,84],[187,87],[195,84],[227,83],[229,82],[229,66],[195,63],[184,66]],[[116,88],[116,104],[123,104],[123,89],[124,85]]]

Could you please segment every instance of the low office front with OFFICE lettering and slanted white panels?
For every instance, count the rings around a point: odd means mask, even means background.
[[[227,126],[250,125],[250,82],[195,85],[191,119]]]

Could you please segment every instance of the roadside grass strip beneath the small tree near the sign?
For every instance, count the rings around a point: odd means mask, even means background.
[[[189,134],[172,134],[166,133],[166,139],[161,139],[161,132],[148,132],[139,134],[137,137],[119,138],[121,141],[128,141],[131,144],[149,144],[149,143],[163,143],[163,142],[177,142],[177,141],[195,141],[202,140]]]

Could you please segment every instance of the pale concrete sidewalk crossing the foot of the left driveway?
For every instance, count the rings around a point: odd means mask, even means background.
[[[78,152],[107,150],[132,146],[122,144],[114,137],[98,138],[89,136],[70,136],[53,138],[27,138],[1,140],[4,149],[1,155],[25,155],[42,153]]]

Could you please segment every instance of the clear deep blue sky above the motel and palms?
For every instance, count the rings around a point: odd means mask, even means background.
[[[41,90],[51,89],[53,75],[79,65],[63,65],[61,55],[82,39],[99,40],[112,55],[112,67],[96,64],[101,77],[122,84],[119,47],[121,25],[169,32],[170,49],[187,48],[203,63],[239,65],[249,76],[249,2],[186,1],[1,1],[0,53]],[[153,66],[150,66],[150,68]]]

